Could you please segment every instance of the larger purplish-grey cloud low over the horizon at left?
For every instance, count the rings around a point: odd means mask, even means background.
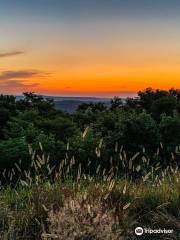
[[[36,87],[39,83],[27,83],[33,77],[45,76],[44,73],[37,70],[4,71],[0,74],[1,89],[17,89]]]

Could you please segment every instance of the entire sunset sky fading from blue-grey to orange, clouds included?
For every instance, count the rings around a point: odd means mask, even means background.
[[[0,93],[180,88],[179,0],[0,0]]]

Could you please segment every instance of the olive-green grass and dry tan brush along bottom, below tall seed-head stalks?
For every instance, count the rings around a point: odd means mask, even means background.
[[[0,239],[139,239],[137,226],[173,229],[140,239],[180,239],[180,174],[137,183],[95,180],[20,180],[0,191]]]

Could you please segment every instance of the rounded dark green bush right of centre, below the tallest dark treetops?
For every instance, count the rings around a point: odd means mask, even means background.
[[[112,139],[131,152],[143,147],[153,152],[159,143],[157,124],[146,112],[125,113],[116,122]]]

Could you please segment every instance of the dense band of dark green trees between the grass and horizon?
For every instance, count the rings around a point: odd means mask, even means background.
[[[68,153],[83,169],[90,160],[92,173],[99,164],[103,168],[109,168],[110,162],[118,165],[120,150],[128,157],[138,152],[137,164],[144,156],[152,165],[176,166],[180,90],[149,88],[126,101],[115,97],[110,107],[84,103],[73,114],[57,110],[52,100],[34,93],[24,93],[19,101],[1,95],[0,169],[10,169],[19,162],[22,168],[29,168],[28,145],[38,151],[39,143],[52,165],[58,166]]]

